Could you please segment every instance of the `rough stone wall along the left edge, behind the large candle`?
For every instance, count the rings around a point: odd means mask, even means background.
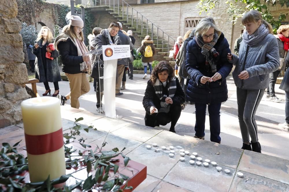
[[[21,22],[16,19],[16,0],[0,0],[0,127],[22,119],[20,103],[29,98],[25,89],[28,82]]]

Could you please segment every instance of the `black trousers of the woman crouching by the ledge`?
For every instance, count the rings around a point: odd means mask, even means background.
[[[146,116],[148,116],[147,118],[145,118],[145,125],[147,126],[155,127],[160,125],[166,125],[171,122],[170,130],[175,130],[175,125],[177,124],[177,121],[181,116],[181,105],[172,104],[168,113],[159,112]],[[154,125],[152,125],[151,123]]]

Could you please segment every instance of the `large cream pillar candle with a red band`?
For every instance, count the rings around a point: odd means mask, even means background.
[[[65,175],[59,99],[36,97],[21,103],[31,182]]]

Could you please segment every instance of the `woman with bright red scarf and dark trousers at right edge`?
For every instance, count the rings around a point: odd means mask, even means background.
[[[286,53],[288,52],[288,42],[289,42],[289,25],[281,25],[279,29],[277,30],[276,38],[278,40],[278,46],[279,46],[279,57],[284,58],[286,57]],[[289,64],[289,63],[288,63]],[[280,63],[280,66],[282,63]],[[273,102],[280,102],[281,99],[276,97],[275,95],[275,83],[277,80],[277,77],[280,74],[280,71],[284,71],[286,67],[286,64],[284,63],[283,67],[281,69],[277,69],[277,71],[274,71],[273,73],[270,73],[270,82],[269,87],[267,88],[267,96],[270,98],[270,101]],[[289,113],[289,112],[288,112]],[[289,119],[288,119],[289,120]]]

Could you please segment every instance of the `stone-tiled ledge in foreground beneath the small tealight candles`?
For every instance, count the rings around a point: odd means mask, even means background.
[[[178,135],[160,127],[147,127],[121,119],[108,118],[86,110],[61,107],[62,126],[66,130],[73,126],[75,118],[83,127],[93,125],[97,131],[81,131],[81,137],[90,144],[101,145],[103,150],[123,148],[124,154],[132,160],[147,165],[147,179],[134,191],[286,191],[289,192],[289,161],[266,154],[244,151],[240,148],[199,140],[187,135]],[[1,142],[14,144],[24,140],[23,124],[0,129]],[[157,143],[166,150],[154,152],[147,144]],[[19,149],[25,146],[20,143]],[[174,146],[175,156],[169,157],[168,146]],[[155,148],[155,147],[153,147]],[[190,165],[189,156],[179,161],[180,149],[197,152],[198,157],[216,161],[216,167]],[[230,170],[230,174],[224,172]],[[243,178],[236,174],[242,172]]]

